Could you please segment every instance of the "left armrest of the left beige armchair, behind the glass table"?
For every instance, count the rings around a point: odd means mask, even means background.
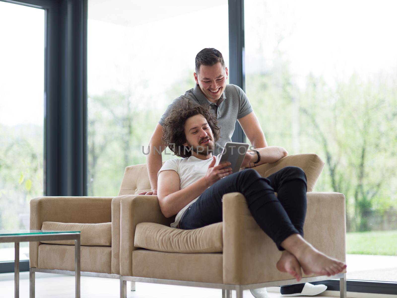
[[[37,197],[30,201],[30,229],[41,230],[44,221],[58,223],[109,223],[113,197]],[[40,242],[29,243],[30,267],[39,265]]]

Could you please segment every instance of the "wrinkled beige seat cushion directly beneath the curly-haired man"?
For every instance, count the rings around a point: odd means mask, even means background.
[[[158,252],[212,253],[223,251],[223,224],[181,230],[156,223],[139,223],[134,246]]]

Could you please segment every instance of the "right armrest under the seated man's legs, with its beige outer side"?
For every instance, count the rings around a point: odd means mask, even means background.
[[[304,238],[318,250],[345,261],[345,196],[307,193],[307,199]],[[225,284],[292,279],[276,269],[281,252],[258,226],[241,193],[223,196],[223,221]]]

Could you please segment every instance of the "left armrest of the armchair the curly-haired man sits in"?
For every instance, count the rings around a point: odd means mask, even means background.
[[[120,211],[120,275],[133,276],[132,251],[135,228],[139,223],[158,223],[170,226],[175,217],[161,213],[157,195],[126,195],[121,198]]]

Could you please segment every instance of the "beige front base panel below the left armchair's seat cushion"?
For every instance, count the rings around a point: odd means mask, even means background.
[[[112,248],[80,246],[80,269],[86,272],[112,273]],[[39,268],[75,270],[75,248],[70,245],[40,244]]]

